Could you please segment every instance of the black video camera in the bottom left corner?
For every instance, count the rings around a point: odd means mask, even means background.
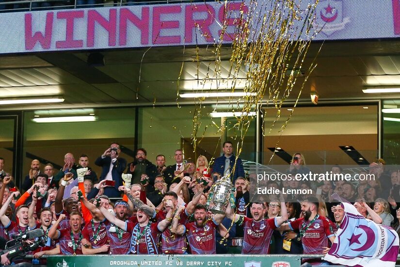
[[[47,243],[47,237],[43,229],[35,229],[21,234],[12,234],[10,240],[5,245],[5,249],[0,251],[0,255],[7,252],[7,258],[12,262],[16,259],[22,259],[25,257],[28,251],[36,250],[38,247],[44,247]],[[32,244],[25,242],[29,239],[35,239]]]

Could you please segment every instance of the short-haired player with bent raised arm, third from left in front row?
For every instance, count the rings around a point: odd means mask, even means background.
[[[60,222],[65,219],[64,214],[60,214],[56,222],[48,231],[48,237],[53,240],[58,240],[60,243],[60,254],[64,255],[82,255],[83,235],[80,231],[82,223],[82,215],[78,211],[73,211],[69,214],[68,228],[57,230]]]

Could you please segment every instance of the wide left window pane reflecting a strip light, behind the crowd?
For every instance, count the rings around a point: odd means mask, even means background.
[[[89,116],[94,114],[96,121],[87,122],[51,122],[37,123],[33,119],[43,117]],[[24,171],[27,175],[32,159],[41,161],[41,170],[45,162],[59,169],[64,165],[64,155],[74,154],[75,163],[81,154],[89,157],[89,166],[96,171],[97,177],[101,168],[95,165],[99,157],[111,142],[118,142],[122,148],[121,157],[128,162],[133,160],[134,150],[134,108],[110,109],[62,109],[40,110],[24,113]]]

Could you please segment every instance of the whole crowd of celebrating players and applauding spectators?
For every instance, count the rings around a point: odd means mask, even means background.
[[[314,193],[280,191],[257,202],[250,197],[256,179],[245,173],[231,142],[224,142],[223,154],[212,166],[205,156],[185,161],[180,149],[174,160],[165,166],[160,154],[153,164],[141,148],[127,163],[119,144],[112,143],[95,161],[102,168],[99,176],[88,166],[87,155],[81,155],[77,165],[66,153],[64,167],[56,172],[51,164],[42,172],[40,162],[33,160],[18,189],[0,158],[0,238],[43,229],[48,242],[32,251],[37,259],[54,254],[224,254],[238,243],[242,254],[321,254],[335,240],[343,201],[400,232],[395,201],[399,171],[385,170],[383,160],[369,166],[369,173],[378,178],[374,181],[275,181],[267,186],[311,188]],[[304,155],[294,154],[288,173],[309,171]],[[332,171],[342,169],[335,166]],[[208,193],[226,176],[233,182],[234,198],[223,214],[213,215]]]

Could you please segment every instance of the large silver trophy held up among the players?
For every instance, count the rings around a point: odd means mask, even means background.
[[[208,210],[213,214],[225,214],[226,204],[228,204],[232,192],[233,184],[229,176],[224,176],[215,182],[208,194]]]

